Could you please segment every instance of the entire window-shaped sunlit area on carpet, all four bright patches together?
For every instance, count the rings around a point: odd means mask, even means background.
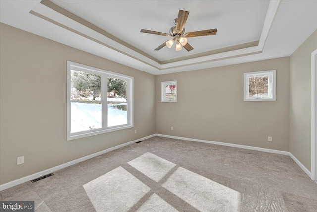
[[[240,211],[239,192],[185,168],[176,169],[176,164],[159,156],[147,152],[128,164],[155,182],[165,177],[163,180],[166,181],[161,184],[165,191],[189,205],[183,208],[175,205],[173,200],[161,198],[158,193],[154,193],[159,188],[151,187],[154,189],[151,191],[150,185],[145,185],[136,177],[140,173],[134,173],[134,176],[119,166],[83,185],[97,212],[126,212],[136,209],[138,212],[178,212],[194,208],[202,212]]]

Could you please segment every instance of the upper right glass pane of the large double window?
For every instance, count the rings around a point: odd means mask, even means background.
[[[108,77],[108,101],[126,102],[127,81]]]

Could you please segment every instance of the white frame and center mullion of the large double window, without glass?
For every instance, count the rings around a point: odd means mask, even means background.
[[[71,133],[71,70],[83,71],[87,73],[98,74],[101,76],[101,103],[102,103],[102,127],[99,129],[80,131]],[[116,78],[127,81],[127,124],[107,127],[107,78]],[[123,130],[133,127],[133,80],[132,76],[127,76],[112,71],[106,71],[95,67],[67,61],[67,141],[83,138],[87,136],[98,135],[111,131]]]

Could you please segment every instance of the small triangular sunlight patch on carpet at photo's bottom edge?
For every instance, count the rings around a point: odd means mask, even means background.
[[[179,212],[157,194],[151,195],[149,199],[137,210],[137,212]]]

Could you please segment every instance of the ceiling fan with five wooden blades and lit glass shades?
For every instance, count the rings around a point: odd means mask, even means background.
[[[178,17],[174,20],[174,24],[176,26],[173,26],[169,29],[168,33],[163,32],[156,32],[146,29],[141,29],[141,32],[143,33],[149,33],[149,34],[155,34],[155,35],[163,35],[163,36],[169,36],[173,37],[172,39],[166,41],[165,43],[161,44],[154,50],[160,50],[164,46],[167,46],[168,48],[171,48],[173,44],[176,41],[176,51],[182,50],[182,46],[189,52],[193,50],[194,48],[187,43],[187,38],[190,37],[198,37],[198,36],[206,36],[206,35],[215,35],[217,34],[217,29],[207,29],[202,31],[196,31],[196,32],[187,32],[185,33],[185,23],[187,20],[187,17],[189,15],[189,12],[179,10]],[[185,33],[185,34],[184,34]]]

